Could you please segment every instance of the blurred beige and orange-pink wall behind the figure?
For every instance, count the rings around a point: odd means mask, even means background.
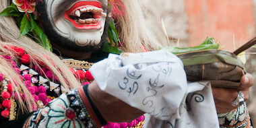
[[[234,51],[256,36],[256,0],[143,0],[139,1],[146,24],[168,46],[161,28],[164,22],[168,40],[175,46],[197,46],[207,36]],[[246,51],[247,72],[256,78],[256,48]],[[256,125],[256,80],[247,101]]]

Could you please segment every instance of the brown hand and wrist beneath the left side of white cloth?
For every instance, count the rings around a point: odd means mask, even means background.
[[[106,121],[115,123],[131,122],[143,115],[141,110],[133,108],[118,98],[100,90],[95,81],[88,86],[88,93]]]

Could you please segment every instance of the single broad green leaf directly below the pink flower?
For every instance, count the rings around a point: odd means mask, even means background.
[[[22,22],[20,24],[20,34],[24,36],[25,34],[28,34],[28,32],[31,31],[31,24],[28,20],[28,17],[26,13],[23,15]]]

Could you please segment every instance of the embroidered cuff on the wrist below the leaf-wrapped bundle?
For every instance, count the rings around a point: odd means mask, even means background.
[[[246,103],[230,111],[229,113],[218,114],[218,119],[221,128],[252,128]]]

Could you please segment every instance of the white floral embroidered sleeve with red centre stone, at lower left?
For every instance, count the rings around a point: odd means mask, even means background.
[[[24,128],[30,127],[96,127],[76,90],[70,90],[34,112]]]

